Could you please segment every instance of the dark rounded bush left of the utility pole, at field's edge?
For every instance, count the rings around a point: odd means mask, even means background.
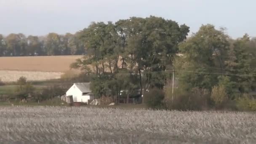
[[[144,102],[148,107],[152,109],[161,109],[163,108],[163,100],[165,94],[162,90],[158,88],[153,88],[149,92],[144,94]]]

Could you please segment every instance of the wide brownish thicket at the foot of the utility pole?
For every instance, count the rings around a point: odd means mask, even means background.
[[[208,108],[210,94],[205,89],[192,88],[189,92],[183,88],[176,88],[173,93],[171,88],[165,88],[165,107],[175,110],[203,110]]]

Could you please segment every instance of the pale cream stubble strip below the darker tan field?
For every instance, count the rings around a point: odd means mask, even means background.
[[[3,82],[17,81],[19,77],[26,77],[29,81],[35,80],[51,80],[61,77],[62,72],[33,72],[33,71],[12,71],[0,70],[0,79]]]

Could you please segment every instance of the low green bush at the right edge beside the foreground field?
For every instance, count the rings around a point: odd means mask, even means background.
[[[242,111],[256,111],[256,99],[248,94],[243,94],[237,99],[237,108]]]

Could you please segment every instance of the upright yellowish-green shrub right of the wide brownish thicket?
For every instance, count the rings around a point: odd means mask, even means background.
[[[214,101],[216,108],[223,107],[223,104],[228,101],[228,95],[224,85],[217,85],[213,87],[211,99]]]

